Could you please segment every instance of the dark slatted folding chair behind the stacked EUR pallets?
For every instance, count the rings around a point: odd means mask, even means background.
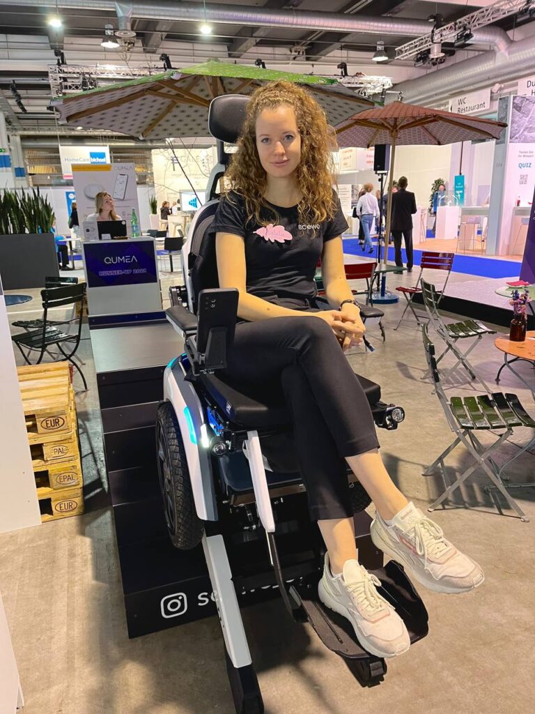
[[[81,340],[83,304],[86,300],[86,283],[61,286],[58,288],[47,288],[41,290],[41,298],[43,299],[43,318],[39,320],[38,328],[28,330],[19,335],[12,335],[11,341],[19,348],[21,355],[28,364],[41,363],[45,354],[48,354],[53,361],[70,362],[80,373],[83,386],[87,391],[86,378],[83,376],[80,366],[78,366],[73,359]],[[76,316],[63,321],[49,320],[49,310],[51,310],[51,308],[66,307],[68,305],[79,306]],[[70,331],[71,326],[75,328],[73,332]],[[58,350],[56,355],[50,351],[51,348],[54,347]],[[32,362],[30,356],[36,352],[39,354],[36,361]]]

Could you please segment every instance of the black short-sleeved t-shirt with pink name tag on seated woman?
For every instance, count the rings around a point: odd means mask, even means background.
[[[245,238],[248,293],[274,303],[314,298],[314,276],[323,243],[347,230],[335,191],[335,215],[316,225],[300,224],[297,206],[283,208],[270,203],[274,210],[263,206],[260,216],[271,225],[262,226],[255,218],[247,220],[242,196],[234,191],[229,196],[221,198],[211,230]]]

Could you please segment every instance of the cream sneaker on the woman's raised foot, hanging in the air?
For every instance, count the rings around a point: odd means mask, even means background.
[[[392,518],[392,526],[375,513],[370,533],[377,548],[403,565],[410,578],[436,593],[467,593],[485,579],[480,566],[459,553],[437,523],[412,502]]]

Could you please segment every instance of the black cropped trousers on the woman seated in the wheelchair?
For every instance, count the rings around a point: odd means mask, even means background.
[[[282,389],[316,520],[352,516],[345,456],[379,447],[372,411],[330,326],[281,317],[236,326],[226,373],[252,391]]]

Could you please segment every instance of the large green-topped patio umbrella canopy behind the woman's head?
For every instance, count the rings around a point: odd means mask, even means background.
[[[54,100],[61,124],[108,129],[139,139],[205,136],[210,101],[221,94],[250,94],[268,81],[305,84],[335,126],[374,106],[336,79],[256,66],[209,61]]]

